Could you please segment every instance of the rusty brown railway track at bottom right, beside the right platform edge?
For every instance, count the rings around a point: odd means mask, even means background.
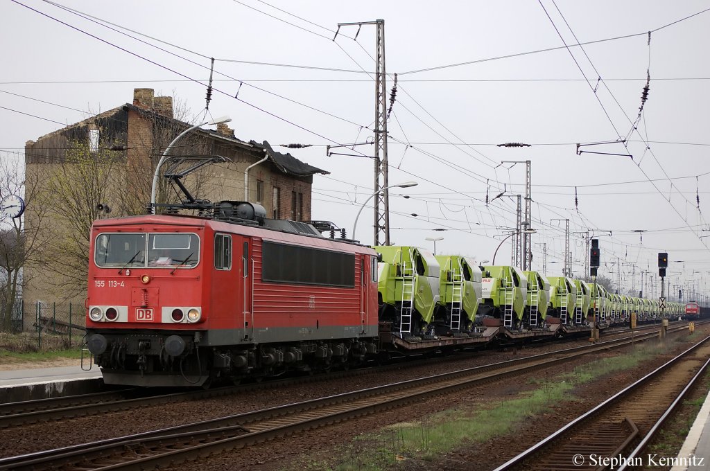
[[[710,337],[496,468],[624,470],[648,465],[645,446],[710,364]]]

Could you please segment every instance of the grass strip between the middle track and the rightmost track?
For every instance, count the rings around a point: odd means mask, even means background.
[[[356,436],[338,450],[339,458],[305,458],[306,462],[297,466],[312,471],[376,471],[409,461],[426,468],[427,462],[444,453],[506,436],[531,416],[564,401],[579,400],[572,394],[575,387],[633,368],[663,349],[662,345],[639,345],[630,355],[595,360],[553,379],[535,379],[530,381],[535,389],[518,392],[511,399],[491,402],[488,398],[472,398],[469,404],[420,421],[395,423]]]

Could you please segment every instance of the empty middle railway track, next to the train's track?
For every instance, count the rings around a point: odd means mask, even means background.
[[[677,330],[682,329],[677,328]],[[427,397],[551,367],[579,358],[581,355],[623,347],[634,341],[656,336],[657,333],[646,333],[637,335],[633,339],[608,340],[594,345],[543,353],[484,367],[103,440],[101,443],[88,443],[4,458],[0,460],[0,470],[49,470],[57,467],[66,470],[146,469],[174,466],[176,462],[192,460],[225,449],[241,448],[251,443],[356,416],[373,414]]]

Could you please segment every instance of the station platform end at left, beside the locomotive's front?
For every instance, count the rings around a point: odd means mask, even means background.
[[[0,371],[0,403],[96,392],[104,387],[101,370],[75,366]]]

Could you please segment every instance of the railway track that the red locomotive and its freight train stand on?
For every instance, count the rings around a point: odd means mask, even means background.
[[[680,328],[684,328],[684,326],[681,326]],[[677,328],[679,327],[672,326],[670,331],[674,331],[674,329]],[[643,334],[645,331],[656,332],[653,327],[639,328],[636,332]],[[609,332],[610,336],[616,336],[621,333],[628,335],[628,330],[622,332]],[[599,345],[604,344],[601,343]],[[476,355],[476,353],[471,353],[470,355]],[[465,359],[466,357],[461,357],[459,355],[459,358]],[[520,360],[524,360],[524,358]],[[415,366],[426,365],[427,363],[438,363],[440,361],[441,360],[439,358],[417,360]],[[111,411],[126,411],[156,404],[174,403],[175,401],[195,401],[209,399],[212,397],[224,397],[232,394],[243,394],[245,392],[258,391],[263,388],[287,387],[293,384],[304,384],[308,382],[338,379],[340,377],[367,375],[373,371],[382,372],[387,369],[396,370],[400,367],[401,364],[395,362],[392,365],[385,365],[378,368],[364,367],[356,370],[332,372],[328,375],[290,377],[288,379],[277,379],[262,383],[219,387],[209,390],[172,392],[170,394],[155,394],[155,392],[151,391],[151,389],[121,389],[110,392],[80,394],[70,397],[6,403],[0,404],[0,428],[20,426],[25,423],[37,423],[58,419],[71,419],[72,417],[77,416],[104,414]]]

